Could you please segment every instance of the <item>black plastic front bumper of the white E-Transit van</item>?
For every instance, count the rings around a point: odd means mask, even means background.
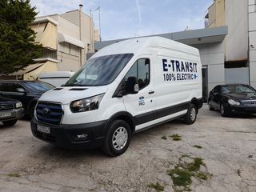
[[[31,120],[31,131],[34,137],[45,142],[53,143],[69,149],[90,149],[103,145],[105,139],[105,126],[107,121],[90,122],[77,125],[50,126],[38,122],[35,118]],[[50,127],[50,134],[43,134],[38,131],[38,125]],[[74,136],[88,134],[84,141],[75,141]]]

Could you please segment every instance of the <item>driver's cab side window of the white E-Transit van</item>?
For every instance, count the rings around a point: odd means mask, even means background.
[[[140,90],[148,86],[150,84],[150,59],[138,59],[126,74],[124,78],[125,82],[129,77],[137,78]]]

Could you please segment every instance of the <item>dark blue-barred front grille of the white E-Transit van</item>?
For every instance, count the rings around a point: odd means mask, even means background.
[[[62,105],[53,102],[38,102],[36,115],[39,122],[57,126],[62,121]]]

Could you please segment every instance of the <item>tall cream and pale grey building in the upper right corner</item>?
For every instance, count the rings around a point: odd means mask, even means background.
[[[256,0],[214,0],[206,28],[228,26],[225,43],[225,82],[256,88]]]

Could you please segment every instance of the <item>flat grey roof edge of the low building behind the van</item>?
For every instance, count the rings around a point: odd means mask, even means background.
[[[218,26],[214,28],[207,28],[201,30],[186,30],[168,34],[155,34],[146,37],[159,36],[163,38],[169,38],[171,40],[182,42],[186,45],[197,45],[204,43],[222,42],[228,34],[227,26]],[[109,46],[115,42],[121,42],[130,38],[116,39],[104,42],[95,42],[95,50],[100,50],[105,46]]]

